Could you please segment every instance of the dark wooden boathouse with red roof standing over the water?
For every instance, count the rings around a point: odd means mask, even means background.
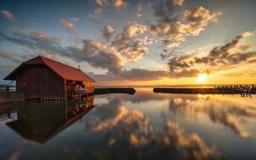
[[[95,82],[80,69],[41,55],[21,63],[3,80],[16,81],[17,90],[25,92],[25,99],[66,98],[67,91],[78,87],[87,89],[87,93],[93,93]]]

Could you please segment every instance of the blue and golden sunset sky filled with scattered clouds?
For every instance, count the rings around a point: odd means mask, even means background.
[[[0,2],[0,83],[42,55],[95,86],[256,83],[256,1]],[[9,81],[7,81],[9,83]]]

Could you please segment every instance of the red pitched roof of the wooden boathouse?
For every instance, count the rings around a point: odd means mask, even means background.
[[[69,65],[65,65],[61,62],[54,61],[53,59],[49,59],[39,55],[29,61],[23,62],[19,65],[12,73],[7,75],[5,80],[9,79],[8,77],[13,74],[19,67],[22,65],[46,65],[51,70],[53,70],[56,74],[66,80],[73,81],[85,81],[85,82],[95,82],[89,75],[83,73],[83,71],[76,69],[75,67],[71,67]]]

